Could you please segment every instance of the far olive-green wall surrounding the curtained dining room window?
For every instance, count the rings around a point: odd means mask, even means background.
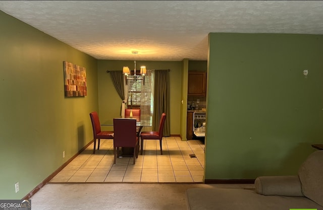
[[[181,90],[182,90],[182,62],[181,61],[140,61],[137,60],[136,66],[145,65],[147,69],[171,69],[170,71],[170,134],[180,134],[180,116],[181,116]],[[109,71],[122,71],[123,66],[129,66],[134,69],[133,60],[98,60],[98,94],[99,94],[99,112],[100,121],[113,117],[121,116],[121,103]],[[109,126],[102,129],[112,129]],[[143,128],[148,129],[148,128]]]

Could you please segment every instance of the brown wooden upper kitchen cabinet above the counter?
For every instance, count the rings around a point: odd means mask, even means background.
[[[188,96],[206,96],[206,72],[188,72]]]

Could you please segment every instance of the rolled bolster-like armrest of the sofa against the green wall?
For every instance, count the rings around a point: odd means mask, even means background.
[[[261,195],[304,196],[298,176],[260,176],[254,184]]]

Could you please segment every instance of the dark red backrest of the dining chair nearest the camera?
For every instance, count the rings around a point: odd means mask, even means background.
[[[135,147],[136,146],[136,119],[114,118],[114,147]]]

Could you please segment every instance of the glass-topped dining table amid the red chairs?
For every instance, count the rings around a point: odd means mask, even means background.
[[[136,119],[136,126],[138,127],[137,136],[140,138],[140,132],[143,127],[152,126],[152,116],[133,116],[133,117],[116,117],[116,118],[133,118]],[[107,119],[101,123],[101,126],[113,126],[113,119]],[[140,143],[140,139],[139,139]],[[139,145],[143,147],[142,145]],[[133,149],[132,148],[122,148],[119,157],[133,157]]]

